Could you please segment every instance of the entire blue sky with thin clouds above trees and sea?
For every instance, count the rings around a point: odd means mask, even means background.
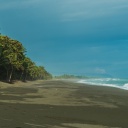
[[[127,0],[0,0],[0,33],[53,75],[128,78]]]

